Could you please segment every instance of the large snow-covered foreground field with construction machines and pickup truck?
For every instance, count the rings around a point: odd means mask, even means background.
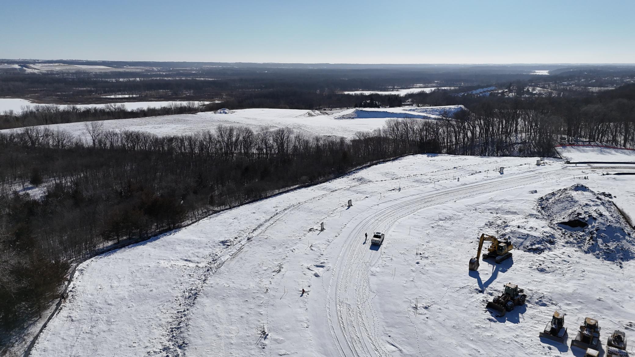
[[[88,260],[32,356],[581,356],[538,337],[556,309],[567,342],[586,316],[632,340],[634,232],[610,200],[634,177],[535,162],[409,156]],[[482,232],[514,257],[468,272]],[[526,305],[487,313],[510,281]]]

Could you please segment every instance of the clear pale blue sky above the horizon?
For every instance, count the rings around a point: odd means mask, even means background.
[[[0,58],[634,63],[635,1],[5,1]]]

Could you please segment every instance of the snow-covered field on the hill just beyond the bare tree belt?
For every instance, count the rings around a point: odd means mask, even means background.
[[[148,118],[116,119],[100,121],[105,130],[138,130],[156,135],[184,135],[196,131],[213,130],[218,125],[244,125],[260,128],[290,128],[309,135],[352,137],[358,131],[381,128],[392,118],[438,119],[443,112],[450,114],[463,109],[462,105],[445,107],[397,107],[346,109],[320,112],[300,109],[225,109],[217,112],[178,114]],[[84,123],[47,125],[50,129],[62,129],[85,137]],[[6,131],[6,130],[5,130]]]

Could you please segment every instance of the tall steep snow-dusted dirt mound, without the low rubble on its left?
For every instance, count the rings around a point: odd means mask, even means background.
[[[609,199],[612,197],[577,184],[542,196],[537,210],[565,244],[599,259],[635,259],[635,232]]]

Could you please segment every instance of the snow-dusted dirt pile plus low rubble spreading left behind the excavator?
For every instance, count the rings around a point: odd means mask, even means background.
[[[568,245],[621,264],[635,259],[635,231],[612,198],[576,184],[538,198],[535,213],[509,222],[493,219],[486,227],[524,252],[541,254]]]

